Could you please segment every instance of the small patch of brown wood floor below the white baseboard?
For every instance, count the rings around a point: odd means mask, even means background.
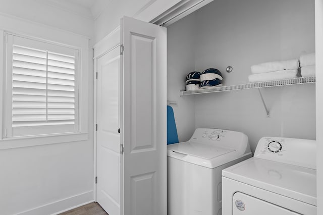
[[[109,215],[95,202],[60,213],[60,215]]]

